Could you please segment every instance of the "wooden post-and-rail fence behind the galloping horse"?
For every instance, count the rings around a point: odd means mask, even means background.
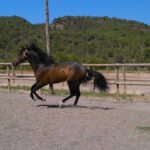
[[[83,64],[86,67],[89,67],[93,70],[100,70],[108,79],[110,85],[114,85],[115,93],[119,97],[120,94],[120,86],[123,86],[123,93],[127,93],[127,85],[135,85],[135,86],[148,86],[150,87],[150,76],[148,77],[140,77],[141,72],[146,72],[150,75],[148,69],[150,68],[150,63],[143,64]],[[28,63],[23,63],[20,65],[21,76],[17,75],[16,68],[11,63],[0,63],[0,80],[6,79],[8,91],[11,91],[11,81],[15,82],[15,80],[35,80],[32,75],[25,75],[24,68],[25,66],[29,66]],[[145,69],[146,68],[146,69]],[[127,74],[129,71],[134,72],[134,76],[132,78],[128,78]],[[113,73],[113,77],[111,74]],[[1,86],[1,85],[0,85]]]

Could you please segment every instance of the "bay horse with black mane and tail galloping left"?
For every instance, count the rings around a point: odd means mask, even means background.
[[[30,93],[33,100],[37,98],[44,101],[45,99],[39,96],[36,91],[48,84],[52,86],[54,83],[64,81],[67,81],[70,95],[61,101],[60,107],[73,96],[76,96],[74,101],[74,106],[76,106],[80,97],[80,85],[89,80],[94,79],[94,88],[100,91],[107,91],[109,88],[106,78],[101,73],[90,70],[77,62],[55,63],[51,56],[48,56],[34,44],[22,47],[12,64],[17,66],[25,61],[30,63],[36,78]]]

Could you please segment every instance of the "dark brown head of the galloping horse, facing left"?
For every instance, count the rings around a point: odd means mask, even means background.
[[[28,46],[22,47],[18,53],[18,56],[15,61],[12,62],[14,66],[17,66],[27,60],[27,53],[29,52]]]

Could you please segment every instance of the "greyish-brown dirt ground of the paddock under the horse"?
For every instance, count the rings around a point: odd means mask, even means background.
[[[28,93],[0,92],[0,150],[149,150],[150,103],[81,97],[34,102]]]

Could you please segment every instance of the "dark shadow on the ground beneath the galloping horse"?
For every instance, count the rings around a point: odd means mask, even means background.
[[[49,104],[40,104],[37,105],[37,107],[46,107],[46,108],[60,108],[59,105],[49,105]],[[77,106],[73,106],[73,105],[64,105],[62,107],[62,109],[66,109],[66,108],[76,108],[76,109],[102,109],[102,110],[113,110],[115,109],[114,107],[99,107],[99,106],[81,106],[81,105],[77,105]]]

